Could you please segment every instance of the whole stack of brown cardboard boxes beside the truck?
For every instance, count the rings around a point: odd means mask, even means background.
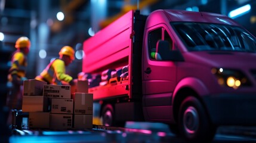
[[[76,80],[75,88],[35,79],[24,82],[22,109],[29,112],[29,128],[92,128],[92,102],[88,81]]]

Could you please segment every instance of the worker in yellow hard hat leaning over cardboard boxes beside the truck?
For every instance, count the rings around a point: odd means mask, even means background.
[[[60,58],[51,61],[44,71],[42,71],[39,76],[36,76],[35,79],[47,82],[51,85],[61,85],[63,82],[73,85],[73,78],[66,74],[66,66],[75,59],[75,51],[71,46],[63,46],[58,54]]]

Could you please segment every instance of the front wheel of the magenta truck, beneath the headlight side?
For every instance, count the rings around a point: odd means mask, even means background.
[[[214,138],[216,128],[197,98],[190,96],[183,100],[178,119],[181,136],[188,141],[209,142]]]

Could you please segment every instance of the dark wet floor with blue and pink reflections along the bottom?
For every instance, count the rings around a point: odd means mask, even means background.
[[[13,130],[16,142],[186,142],[161,123],[129,122],[126,128],[94,125],[88,130]],[[212,142],[256,142],[256,136],[217,133]]]

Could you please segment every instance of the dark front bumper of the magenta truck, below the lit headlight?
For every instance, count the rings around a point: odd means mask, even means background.
[[[215,125],[256,125],[256,93],[209,95],[203,101]]]

